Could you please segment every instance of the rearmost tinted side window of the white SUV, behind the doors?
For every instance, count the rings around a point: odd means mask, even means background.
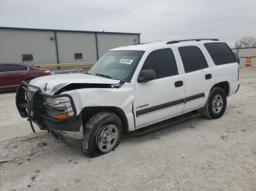
[[[236,59],[227,44],[222,42],[206,43],[206,50],[216,65],[235,63]]]

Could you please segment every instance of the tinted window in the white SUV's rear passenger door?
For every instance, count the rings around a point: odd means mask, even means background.
[[[181,55],[186,73],[206,69],[208,67],[206,58],[198,47],[179,47],[178,52]]]

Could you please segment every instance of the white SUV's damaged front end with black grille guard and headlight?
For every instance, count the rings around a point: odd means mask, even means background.
[[[16,106],[20,116],[28,118],[33,131],[35,122],[41,130],[76,131],[83,137],[81,116],[77,115],[71,95],[43,93],[40,87],[22,82],[16,93]]]

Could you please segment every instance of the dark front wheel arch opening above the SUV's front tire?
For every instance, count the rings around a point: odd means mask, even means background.
[[[124,111],[121,108],[116,106],[88,106],[82,109],[80,112],[83,125],[92,117],[94,114],[98,112],[113,112],[120,117],[121,121],[123,122],[123,132],[128,132],[129,125],[127,116],[124,114]]]

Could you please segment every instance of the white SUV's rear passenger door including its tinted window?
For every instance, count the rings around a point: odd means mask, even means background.
[[[200,45],[180,46],[178,52],[184,66],[184,112],[189,112],[206,104],[208,93],[215,84],[214,69],[208,65]]]

